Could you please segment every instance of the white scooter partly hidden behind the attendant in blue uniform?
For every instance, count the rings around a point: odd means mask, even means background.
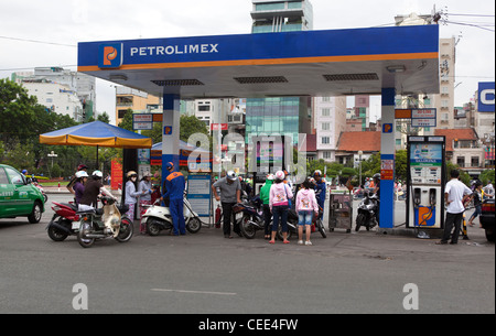
[[[147,228],[150,236],[158,236],[161,230],[170,230],[174,228],[172,224],[172,216],[169,207],[159,206],[160,199],[155,200],[153,205],[148,207],[147,212],[141,216],[141,225]],[[183,215],[186,224],[186,230],[190,234],[197,234],[202,228],[202,221],[198,215],[191,207],[186,197],[183,200]]]

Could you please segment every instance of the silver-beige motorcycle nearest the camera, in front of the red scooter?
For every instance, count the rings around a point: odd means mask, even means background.
[[[96,239],[109,237],[114,237],[119,242],[127,242],[134,231],[131,219],[127,215],[121,215],[115,198],[104,196],[100,200],[104,204],[103,209],[77,213],[80,217],[77,241],[84,248],[91,247]],[[123,206],[121,209],[125,214],[129,207]]]

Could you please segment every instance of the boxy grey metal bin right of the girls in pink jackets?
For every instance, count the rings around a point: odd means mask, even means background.
[[[331,194],[328,212],[328,229],[345,229],[347,234],[352,232],[353,223],[353,195],[352,194]]]

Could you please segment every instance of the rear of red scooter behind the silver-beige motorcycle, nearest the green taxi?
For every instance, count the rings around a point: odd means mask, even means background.
[[[76,236],[79,230],[77,205],[71,203],[52,202],[55,214],[46,230],[53,241],[64,241],[68,236]]]

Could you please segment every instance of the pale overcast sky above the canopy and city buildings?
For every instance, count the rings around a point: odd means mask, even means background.
[[[448,13],[443,15],[448,22],[440,24],[441,37],[460,37],[455,73],[460,85],[455,90],[455,106],[473,97],[478,82],[495,80],[495,4],[492,0],[311,2],[314,30],[391,26],[396,15],[430,14],[435,6],[438,11]],[[1,1],[0,78],[36,66],[76,69],[77,42],[248,34],[251,10],[251,0]],[[108,82],[98,80],[97,110],[114,117],[115,88]]]

